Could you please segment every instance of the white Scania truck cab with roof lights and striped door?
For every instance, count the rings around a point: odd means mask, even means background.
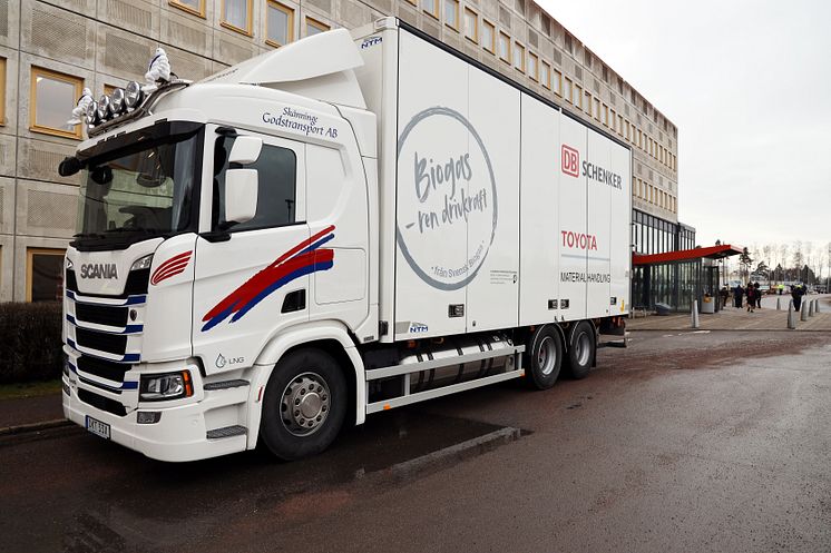
[[[81,171],[66,255],[68,418],[166,461],[254,447],[264,399],[284,442],[327,418],[363,421],[345,413],[364,391],[355,343],[379,326],[361,63],[338,30],[92,107],[90,138],[61,165]],[[310,344],[349,378],[312,367],[265,397],[277,359]],[[333,394],[350,397],[329,409]],[[277,453],[301,455],[294,445]]]

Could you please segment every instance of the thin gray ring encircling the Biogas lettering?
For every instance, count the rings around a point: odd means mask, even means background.
[[[407,137],[412,132],[412,130],[416,128],[417,125],[419,125],[421,121],[429,117],[449,117],[451,119],[454,119],[456,121],[460,122],[461,125],[467,128],[468,132],[473,137],[476,142],[479,145],[479,149],[482,152],[482,157],[485,157],[485,162],[488,166],[488,175],[490,177],[490,185],[492,189],[492,198],[493,198],[493,221],[490,230],[490,241],[488,243],[488,247],[485,250],[485,254],[481,257],[481,260],[477,265],[476,269],[468,273],[468,275],[459,280],[458,283],[442,283],[440,280],[434,279],[430,275],[428,275],[416,261],[416,259],[410,254],[410,250],[407,248],[407,243],[404,241],[403,234],[401,233],[401,227],[398,223],[395,223],[395,240],[398,241],[399,248],[401,248],[401,254],[404,256],[404,259],[407,259],[407,263],[410,265],[413,271],[421,278],[424,283],[429,284],[433,288],[438,288],[441,290],[457,290],[459,288],[462,288],[468,285],[473,278],[476,278],[477,274],[479,273],[479,269],[485,265],[485,259],[488,257],[488,253],[490,251],[490,246],[493,244],[493,238],[496,237],[497,233],[497,181],[496,177],[493,176],[493,166],[490,162],[490,156],[488,155],[487,148],[485,148],[485,142],[482,142],[481,137],[479,136],[479,132],[476,131],[473,126],[468,121],[468,119],[459,113],[458,111],[444,108],[441,106],[437,106],[433,108],[428,108],[423,111],[420,111],[413,116],[412,119],[410,119],[410,122],[407,124],[407,127],[404,127],[404,130],[401,132],[401,136],[398,139],[398,150],[397,150],[397,157],[401,158],[401,150],[404,147],[404,142],[407,141]],[[467,253],[465,255],[467,258]]]

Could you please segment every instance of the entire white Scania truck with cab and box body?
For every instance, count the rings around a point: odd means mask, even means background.
[[[630,150],[393,18],[87,124],[63,412],[149,457],[303,457],[371,413],[583,377],[623,328]]]

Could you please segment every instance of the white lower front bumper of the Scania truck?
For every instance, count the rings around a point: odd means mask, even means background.
[[[159,461],[196,461],[246,450],[246,433],[208,438],[208,432],[245,425],[250,386],[206,392],[198,372],[194,381],[197,394],[173,402],[138,403],[138,389],[123,391],[121,394],[135,394],[136,397],[121,398],[125,404],[135,405],[121,416],[82,401],[79,391],[88,389],[98,394],[101,391],[88,386],[77,374],[70,373],[63,376],[63,415],[85,428],[87,416],[106,423],[110,427],[113,442]],[[158,412],[160,418],[154,424],[138,424],[139,412]]]

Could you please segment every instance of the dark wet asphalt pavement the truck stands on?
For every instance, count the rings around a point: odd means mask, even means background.
[[[831,551],[831,336],[636,332],[584,381],[369,418],[315,458],[0,440],[0,551]]]

